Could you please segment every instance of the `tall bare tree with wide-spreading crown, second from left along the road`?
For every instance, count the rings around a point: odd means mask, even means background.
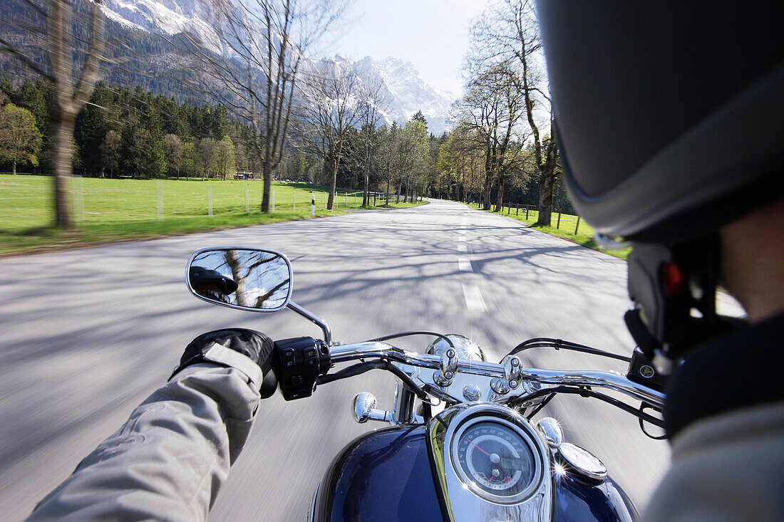
[[[252,129],[252,152],[263,172],[262,212],[270,211],[273,173],[289,136],[303,56],[336,22],[347,1],[202,0],[212,13],[223,55],[190,36],[195,56],[207,66],[201,89]]]

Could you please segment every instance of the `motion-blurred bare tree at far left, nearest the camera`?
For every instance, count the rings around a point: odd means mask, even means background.
[[[0,38],[0,52],[16,56],[25,66],[52,82],[56,103],[51,111],[54,129],[54,209],[55,225],[71,228],[71,213],[68,208],[68,179],[71,177],[74,150],[76,115],[89,100],[90,93],[99,78],[99,63],[103,53],[104,17],[102,0],[88,3],[89,22],[77,20],[76,6],[64,0],[24,0],[29,20],[20,21],[17,28],[41,42],[49,63],[38,62],[28,56],[17,45]],[[88,27],[87,41],[74,38],[73,27],[79,24]],[[74,60],[74,55],[78,57]]]

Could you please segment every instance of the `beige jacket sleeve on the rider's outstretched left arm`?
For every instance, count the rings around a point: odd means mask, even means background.
[[[27,520],[205,520],[258,404],[259,391],[237,369],[185,368]]]

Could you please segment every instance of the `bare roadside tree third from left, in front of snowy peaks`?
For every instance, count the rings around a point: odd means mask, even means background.
[[[327,209],[335,200],[338,167],[347,153],[349,129],[356,125],[356,77],[331,60],[318,63],[303,74],[302,102],[299,106],[299,143],[320,157],[330,172]]]

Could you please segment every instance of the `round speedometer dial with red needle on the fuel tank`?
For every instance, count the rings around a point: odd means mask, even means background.
[[[466,422],[452,440],[452,459],[466,488],[493,502],[512,503],[538,485],[535,449],[512,423]]]

